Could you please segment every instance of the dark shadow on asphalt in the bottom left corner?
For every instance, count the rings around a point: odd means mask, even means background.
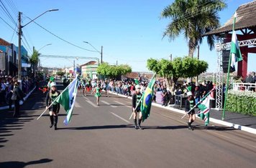
[[[17,168],[22,168],[22,167],[26,167],[28,165],[31,164],[43,164],[43,163],[47,163],[47,162],[52,162],[52,159],[40,159],[40,160],[35,160],[35,161],[30,161],[30,162],[19,162],[19,161],[11,161],[11,162],[0,162],[0,167],[3,168],[13,168],[13,167],[17,167]]]

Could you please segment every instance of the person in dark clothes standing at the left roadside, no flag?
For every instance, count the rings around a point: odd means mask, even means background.
[[[19,88],[19,81],[16,81],[14,83],[14,89],[12,91],[12,101],[14,102],[14,115],[13,117],[19,117],[19,100],[22,100],[24,102],[24,93],[22,92],[22,89]]]

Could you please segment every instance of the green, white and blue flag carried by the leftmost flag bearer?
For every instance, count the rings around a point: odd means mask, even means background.
[[[73,79],[73,81],[68,85],[68,87],[57,97],[56,102],[60,103],[65,112],[67,113],[67,117],[64,120],[64,124],[68,125],[70,122],[70,118],[72,116],[73,107],[76,102],[76,94],[78,91],[78,79]]]

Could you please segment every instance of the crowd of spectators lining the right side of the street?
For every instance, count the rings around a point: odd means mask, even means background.
[[[132,97],[132,94],[135,92],[135,86],[137,84],[140,85],[140,92],[145,92],[145,89],[147,88],[147,84],[149,83],[149,80],[134,80],[134,79],[128,79],[128,80],[115,80],[115,79],[105,79],[105,80],[88,80],[87,83],[93,87],[96,87],[96,84],[100,84],[101,88],[107,91],[114,92],[116,94],[122,94],[127,97]],[[156,94],[157,92],[160,94],[161,103],[163,105],[167,106],[168,104],[175,104],[175,95],[185,94],[188,91],[191,91],[193,93],[193,97],[195,98],[196,102],[200,101],[202,97],[204,97],[205,94],[207,94],[211,89],[214,88],[214,84],[212,81],[203,81],[201,84],[194,83],[186,83],[183,82],[183,84],[175,84],[175,87],[170,88],[167,87],[167,84],[163,79],[159,79],[155,81],[154,85],[154,95],[153,95],[153,102],[156,101]]]

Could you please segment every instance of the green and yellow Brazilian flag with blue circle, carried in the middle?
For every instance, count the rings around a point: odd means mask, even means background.
[[[154,93],[154,84],[155,84],[155,77],[153,77],[150,83],[147,85],[147,88],[142,95],[142,103],[140,105],[140,111],[142,112],[142,121],[150,117],[150,107],[152,104],[152,97]]]

